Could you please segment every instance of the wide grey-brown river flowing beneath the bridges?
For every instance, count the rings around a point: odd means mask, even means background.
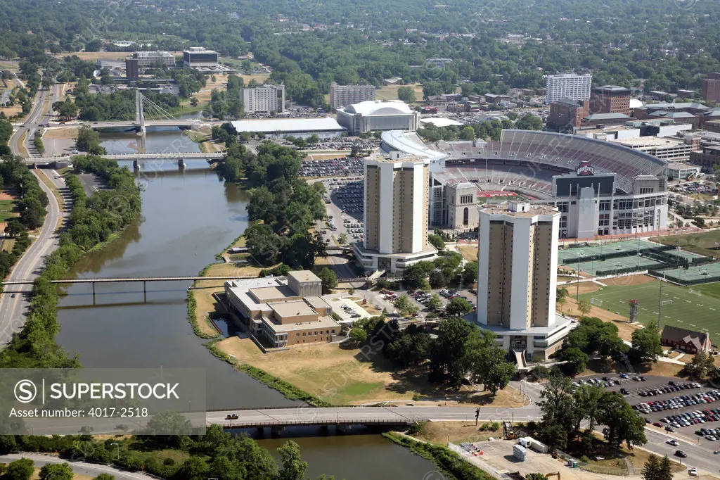
[[[180,143],[181,142],[181,143]],[[109,154],[132,151],[132,135],[102,135]],[[148,152],[199,151],[177,130],[148,133]],[[128,164],[132,168],[132,164]],[[73,268],[75,277],[196,275],[215,261],[248,225],[247,194],[223,184],[207,161],[143,164],[143,218],[107,248],[89,254]],[[217,360],[187,321],[186,287],[181,283],[77,284],[60,301],[58,344],[80,355],[87,368],[204,368],[207,408],[292,406],[294,402]],[[258,440],[271,450],[284,440]],[[310,464],[309,476],[336,479],[422,479],[434,466],[380,435],[297,437]]]

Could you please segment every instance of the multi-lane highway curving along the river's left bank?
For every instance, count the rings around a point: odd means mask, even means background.
[[[53,92],[51,94],[50,105],[58,99],[60,87],[58,85],[53,86]],[[27,143],[28,138],[32,138],[32,134],[37,129],[37,126],[42,123],[50,112],[45,111],[45,99],[48,97],[47,90],[40,90],[37,92],[37,102],[33,105],[27,122],[23,127],[19,127],[12,138],[10,138],[10,148],[14,155],[20,155],[21,150],[19,148],[19,141],[22,138],[22,134],[27,132],[25,141]],[[50,110],[52,106],[50,107]],[[45,216],[45,223],[40,228],[40,233],[37,238],[32,242],[30,247],[25,251],[21,259],[15,264],[14,269],[10,273],[7,280],[34,280],[40,273],[42,268],[42,262],[45,255],[50,254],[58,247],[58,236],[55,232],[55,227],[58,226],[61,215],[60,205],[58,200],[53,195],[52,190],[48,188],[40,175],[43,173],[33,172],[40,183],[40,188],[48,195],[48,215]],[[64,187],[64,181],[62,179],[55,178],[55,175],[49,176],[50,180],[55,183],[56,186]],[[19,290],[17,290],[19,291]],[[29,305],[29,298],[27,295],[22,293],[16,293],[13,297],[15,290],[13,287],[4,288],[4,293],[0,294],[0,346],[6,345],[14,332],[19,332],[24,325],[24,312]]]

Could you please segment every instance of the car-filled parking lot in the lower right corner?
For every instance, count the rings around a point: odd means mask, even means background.
[[[577,383],[580,381],[594,381],[594,384],[624,395],[645,422],[657,430],[702,439],[702,443],[709,444],[714,450],[720,447],[720,430],[714,431],[720,429],[720,390],[716,388],[678,378],[632,373],[576,379]]]

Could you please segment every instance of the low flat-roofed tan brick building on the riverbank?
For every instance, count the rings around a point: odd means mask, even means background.
[[[233,321],[271,348],[330,342],[340,333],[321,291],[320,278],[307,270],[225,282]]]

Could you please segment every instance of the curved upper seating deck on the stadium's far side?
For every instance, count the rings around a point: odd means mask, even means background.
[[[543,164],[556,169],[577,170],[590,162],[598,173],[616,174],[616,188],[632,192],[639,175],[662,177],[667,161],[616,143],[565,133],[535,130],[503,130],[479,158],[505,159]]]

